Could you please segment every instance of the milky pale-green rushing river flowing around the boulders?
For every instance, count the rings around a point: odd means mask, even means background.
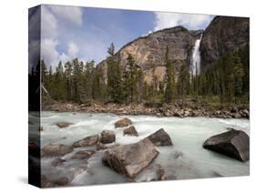
[[[114,127],[121,117],[132,120],[138,131],[138,137],[123,137],[123,129]],[[33,120],[33,117],[31,117]],[[73,125],[66,128],[56,127],[56,122],[66,121]],[[41,117],[41,147],[51,142],[72,145],[87,136],[99,134],[104,129],[114,130],[118,144],[138,142],[149,134],[164,128],[171,137],[172,147],[156,147],[159,156],[154,164],[160,164],[172,179],[213,178],[246,176],[250,173],[250,161],[242,163],[230,157],[222,156],[202,147],[203,142],[213,135],[227,131],[226,127],[241,129],[249,135],[248,119],[222,119],[209,117],[152,117],[152,116],[116,116],[113,114],[57,113],[43,112]],[[32,128],[33,129],[33,128]],[[30,131],[33,138],[33,131]],[[87,147],[88,148],[88,147]],[[81,148],[62,157],[67,159]],[[83,148],[82,148],[83,149]],[[71,185],[92,185],[122,183],[127,181],[115,171],[101,163],[102,151],[88,159],[87,170],[72,178]],[[48,178],[70,175],[70,171],[81,165],[69,160],[62,167],[52,167],[54,157],[41,160],[42,174]],[[147,181],[150,173],[143,172],[136,181]]]

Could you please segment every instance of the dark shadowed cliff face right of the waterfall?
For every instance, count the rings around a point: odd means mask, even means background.
[[[248,44],[249,18],[216,16],[205,29],[200,42],[201,68]]]

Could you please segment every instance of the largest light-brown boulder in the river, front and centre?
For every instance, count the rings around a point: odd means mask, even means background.
[[[103,154],[102,161],[119,174],[135,178],[158,155],[159,152],[146,138],[138,143],[108,148]]]

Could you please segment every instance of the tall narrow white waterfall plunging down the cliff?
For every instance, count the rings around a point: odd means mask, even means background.
[[[202,36],[202,35],[201,35]],[[196,76],[200,74],[200,39],[197,39],[195,42],[195,46],[193,47],[193,53],[190,60],[190,74],[192,76]]]

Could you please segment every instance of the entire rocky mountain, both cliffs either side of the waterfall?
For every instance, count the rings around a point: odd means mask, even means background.
[[[162,29],[148,36],[138,37],[121,47],[115,59],[124,70],[128,54],[131,54],[135,63],[143,69],[146,82],[150,83],[153,79],[152,64],[155,68],[154,76],[163,80],[167,46],[177,76],[180,66],[190,65],[193,47],[201,35],[200,70],[203,70],[206,66],[214,64],[220,56],[249,45],[249,18],[216,16],[205,31],[188,30],[183,26]],[[151,64],[148,58],[152,58]],[[107,60],[100,62],[97,67],[101,67],[104,75],[107,75]]]

